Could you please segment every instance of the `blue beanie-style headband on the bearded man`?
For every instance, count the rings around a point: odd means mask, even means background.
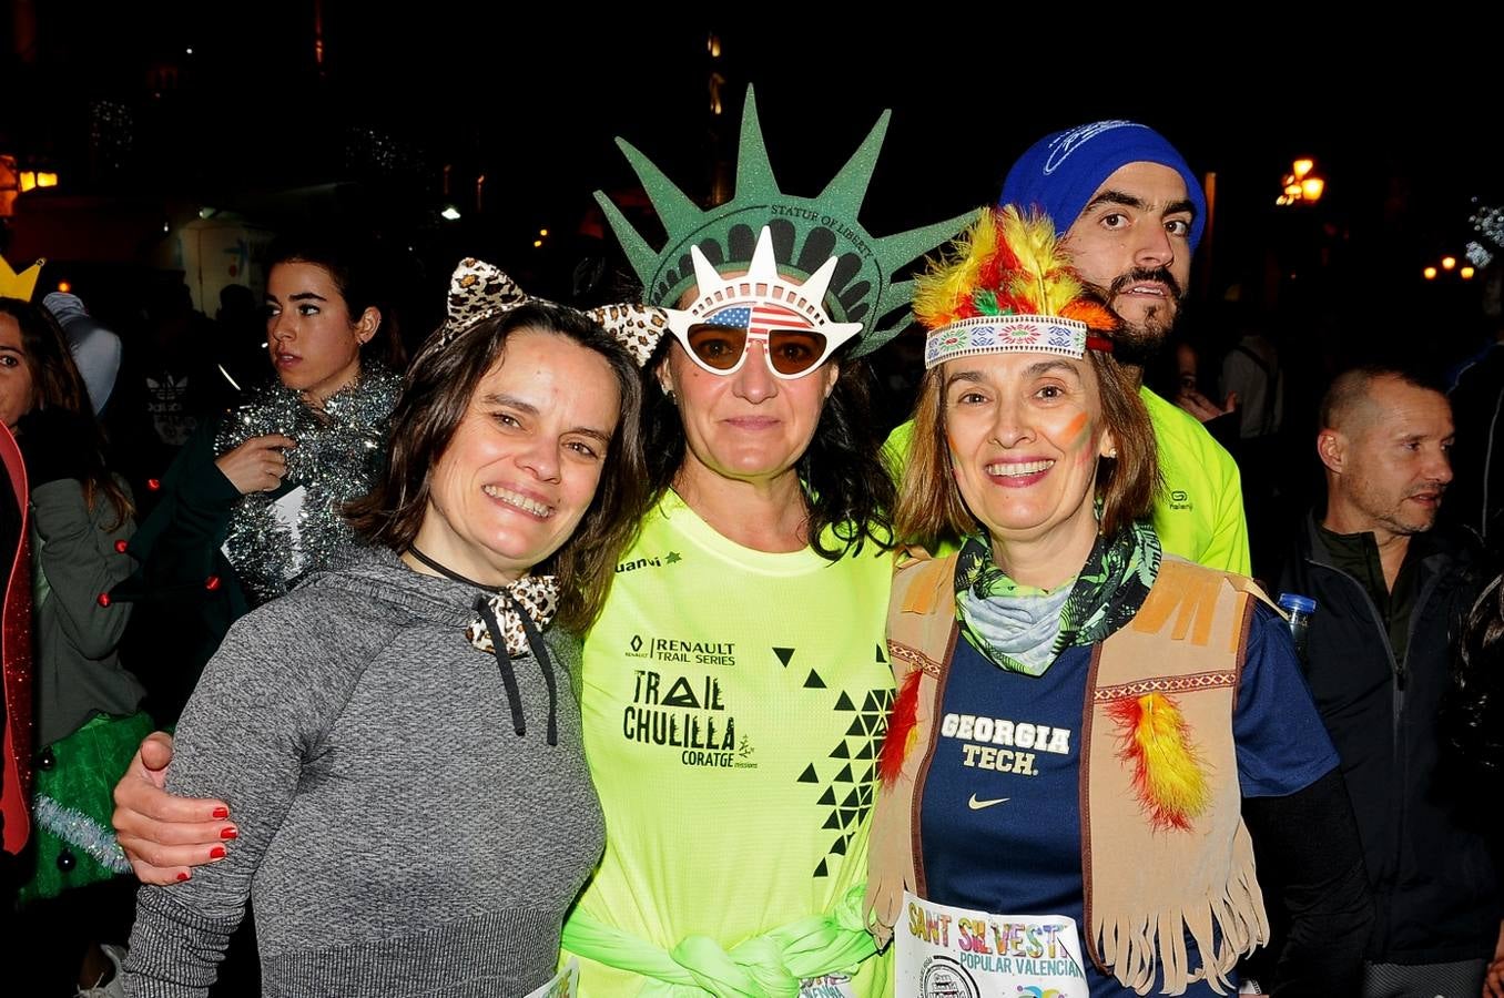
[[[999,204],[1036,206],[1065,231],[1096,194],[1096,188],[1130,162],[1157,162],[1185,180],[1185,194],[1196,206],[1191,221],[1191,253],[1206,228],[1206,195],[1164,135],[1136,122],[1093,122],[1045,135],[1018,158],[1003,180]]]

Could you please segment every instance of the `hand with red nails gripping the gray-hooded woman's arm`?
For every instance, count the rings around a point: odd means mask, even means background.
[[[146,736],[114,786],[114,830],[143,884],[176,884],[188,867],[223,860],[238,831],[224,801],[173,797],[164,788],[173,739]]]

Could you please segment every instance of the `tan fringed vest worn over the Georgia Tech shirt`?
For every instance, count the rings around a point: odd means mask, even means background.
[[[940,681],[958,640],[954,577],[955,555],[935,561],[923,553],[901,561],[893,577],[889,654],[899,691],[916,684],[917,700],[913,727],[895,732],[905,745],[884,747],[884,761],[902,752],[902,768],[893,777],[884,765],[892,779],[872,824],[868,918],[880,942],[904,890],[925,893],[917,809],[934,753]],[[1268,939],[1232,738],[1254,598],[1265,597],[1248,579],[1166,556],[1137,616],[1092,654],[1080,762],[1083,930],[1098,968],[1140,995],[1154,986],[1157,968],[1164,993],[1182,993],[1203,977],[1223,993],[1239,954]],[[1160,699],[1145,700],[1149,694]],[[1125,702],[1169,702],[1185,723],[1206,789],[1185,828],[1151,816],[1111,715]],[[1187,932],[1200,968],[1188,966]]]

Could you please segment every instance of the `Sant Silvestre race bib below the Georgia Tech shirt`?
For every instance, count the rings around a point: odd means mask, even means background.
[[[896,998],[1089,998],[1081,935],[1063,915],[993,915],[904,893]]]

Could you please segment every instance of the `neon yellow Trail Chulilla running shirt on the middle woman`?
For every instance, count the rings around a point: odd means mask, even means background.
[[[660,950],[692,935],[732,950],[866,882],[890,576],[871,544],[839,562],[741,547],[672,491],[648,514],[585,642],[606,813],[585,918]],[[889,993],[887,963],[865,960],[842,990]],[[581,966],[584,995],[669,993]]]

